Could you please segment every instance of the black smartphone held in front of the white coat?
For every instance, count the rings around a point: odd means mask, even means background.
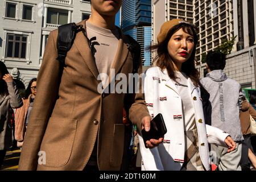
[[[164,134],[167,133],[166,125],[164,123],[163,115],[158,114],[156,115],[150,122],[150,130],[146,131],[143,129],[142,131],[142,138],[144,140],[144,145],[147,148],[146,141],[150,139],[159,139],[164,137]]]

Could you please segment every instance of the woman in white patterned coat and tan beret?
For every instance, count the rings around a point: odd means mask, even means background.
[[[152,117],[162,113],[167,133],[157,147],[152,139],[144,146],[139,136],[142,170],[210,170],[208,143],[229,147],[229,152],[236,147],[229,134],[205,125],[196,44],[195,27],[172,19],[162,25],[158,44],[151,47],[158,56],[156,67],[146,72],[144,96]]]

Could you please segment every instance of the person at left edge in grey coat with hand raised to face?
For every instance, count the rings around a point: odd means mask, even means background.
[[[22,106],[22,97],[18,93],[13,77],[6,65],[0,61],[0,168],[6,151],[13,144],[11,127],[12,109]]]

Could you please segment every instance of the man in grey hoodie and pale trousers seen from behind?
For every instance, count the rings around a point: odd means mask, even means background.
[[[211,124],[229,133],[236,142],[236,148],[228,152],[228,148],[212,144],[211,150],[216,152],[219,170],[241,170],[239,165],[242,152],[243,135],[239,118],[238,99],[240,84],[226,76],[224,68],[226,55],[221,52],[210,51],[206,57],[208,74],[201,79],[201,84],[210,94],[212,106]]]

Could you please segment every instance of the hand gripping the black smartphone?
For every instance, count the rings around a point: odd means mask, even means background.
[[[151,121],[150,116],[146,116],[146,117],[142,118],[142,129],[145,129],[145,131],[149,131],[150,130],[150,121]],[[163,138],[159,138],[158,140],[150,139],[150,140],[146,141],[146,145],[148,148],[154,148],[156,146],[159,146],[159,144],[162,142],[163,142]]]

